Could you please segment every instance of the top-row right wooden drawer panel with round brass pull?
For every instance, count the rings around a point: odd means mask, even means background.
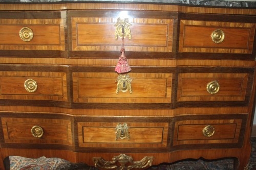
[[[180,53],[251,54],[255,23],[181,20]]]

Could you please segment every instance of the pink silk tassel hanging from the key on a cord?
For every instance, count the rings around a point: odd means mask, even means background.
[[[124,48],[121,48],[120,52],[122,53],[122,55],[119,57],[118,63],[115,68],[115,71],[118,72],[118,74],[122,74],[132,70],[130,65],[127,63],[126,57],[124,56]]]

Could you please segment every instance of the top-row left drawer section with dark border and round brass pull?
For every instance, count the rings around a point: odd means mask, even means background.
[[[60,13],[1,12],[0,56],[66,56],[66,19]]]

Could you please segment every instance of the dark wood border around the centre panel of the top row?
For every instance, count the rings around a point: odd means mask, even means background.
[[[72,51],[72,17],[118,17],[121,10],[95,10],[95,11],[68,11],[68,28],[69,28],[69,57],[70,58],[119,58],[120,51]],[[177,21],[177,12],[159,12],[159,11],[136,11],[125,10],[127,16],[134,18],[159,18],[159,19],[174,19],[174,23]],[[177,30],[174,28],[174,35],[177,34]],[[114,33],[113,33],[114,35]],[[114,36],[113,36],[114,38]],[[121,45],[121,44],[120,44]],[[176,42],[173,40],[173,52],[175,52]],[[133,59],[174,59],[175,53],[164,52],[130,52],[126,51],[125,56]]]

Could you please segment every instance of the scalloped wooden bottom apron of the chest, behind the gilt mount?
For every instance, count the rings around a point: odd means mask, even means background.
[[[249,144],[247,145],[247,147]],[[248,147],[249,148],[249,147]],[[41,156],[45,156],[47,158],[61,158],[71,162],[84,162],[90,166],[94,166],[94,162],[92,161],[93,157],[101,157],[106,161],[113,161],[112,158],[120,155],[120,152],[115,153],[102,153],[102,152],[92,152],[92,153],[78,153],[72,151],[65,150],[47,150],[47,149],[12,149],[12,148],[2,148],[3,157],[7,157],[9,155],[17,155],[23,156],[27,158],[39,158]],[[153,165],[159,165],[162,162],[176,162],[178,160],[186,159],[187,157],[198,159],[202,156],[205,159],[218,159],[219,157],[230,157],[230,155],[239,157],[242,150],[244,148],[236,148],[236,149],[210,149],[210,150],[180,150],[173,153],[124,153],[126,155],[130,155],[133,157],[134,161],[141,160],[144,156],[154,156]],[[250,152],[250,148],[247,149],[247,152]],[[212,154],[212,153],[215,154]],[[4,167],[3,167],[4,169]]]

